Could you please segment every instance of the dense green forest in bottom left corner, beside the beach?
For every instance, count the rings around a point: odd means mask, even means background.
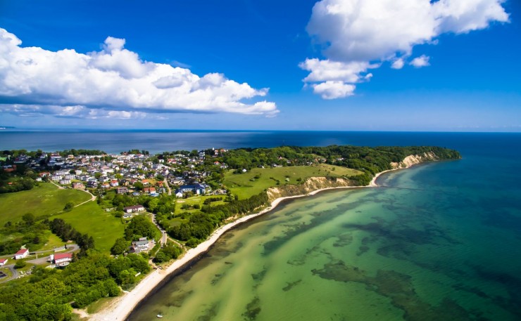
[[[0,320],[70,320],[72,308],[83,308],[106,296],[118,296],[150,270],[145,256],[112,258],[87,251],[65,270],[34,268],[28,282],[6,284],[0,291]],[[72,303],[72,304],[71,304]]]

